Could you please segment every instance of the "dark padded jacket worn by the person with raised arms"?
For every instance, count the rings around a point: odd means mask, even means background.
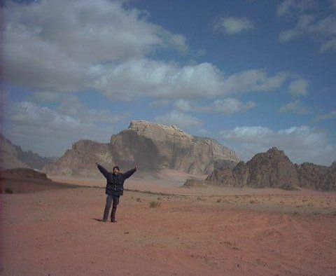
[[[129,178],[136,171],[136,169],[133,169],[125,172],[125,174],[113,174],[113,172],[105,170],[102,165],[98,164],[97,167],[106,178],[106,195],[123,195],[125,179]]]

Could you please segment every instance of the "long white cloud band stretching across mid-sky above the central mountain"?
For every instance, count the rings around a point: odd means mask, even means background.
[[[176,63],[141,59],[116,66],[97,68],[101,76],[95,87],[108,97],[132,100],[214,98],[238,92],[279,89],[288,74],[268,76],[264,70],[251,69],[225,77],[213,64],[179,66]]]

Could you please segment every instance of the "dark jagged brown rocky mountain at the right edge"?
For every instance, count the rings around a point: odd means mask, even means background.
[[[206,180],[232,187],[270,187],[286,190],[302,187],[336,191],[336,167],[312,163],[294,165],[283,151],[274,147],[266,153],[256,154],[246,164],[238,163],[233,169],[216,169]]]

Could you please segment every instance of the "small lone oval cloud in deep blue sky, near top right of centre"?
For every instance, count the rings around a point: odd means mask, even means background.
[[[214,31],[224,32],[225,34],[238,34],[253,28],[253,22],[248,18],[218,18],[214,24]]]

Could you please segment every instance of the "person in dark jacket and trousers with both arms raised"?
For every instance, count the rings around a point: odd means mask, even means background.
[[[120,195],[123,195],[124,193],[124,181],[125,179],[129,178],[134,172],[138,170],[138,165],[133,170],[129,170],[125,172],[125,174],[122,174],[119,172],[119,167],[115,166],[113,167],[113,172],[109,172],[105,170],[102,165],[99,165],[99,163],[95,162],[99,171],[102,172],[104,177],[106,178],[106,190],[105,193],[107,195],[106,198],[106,205],[104,210],[104,216],[103,216],[103,222],[106,222],[109,217],[109,212],[111,209],[111,203],[113,201],[112,206],[112,212],[111,212],[111,222],[117,222],[116,221],[116,212],[117,207],[119,204],[119,198]]]

